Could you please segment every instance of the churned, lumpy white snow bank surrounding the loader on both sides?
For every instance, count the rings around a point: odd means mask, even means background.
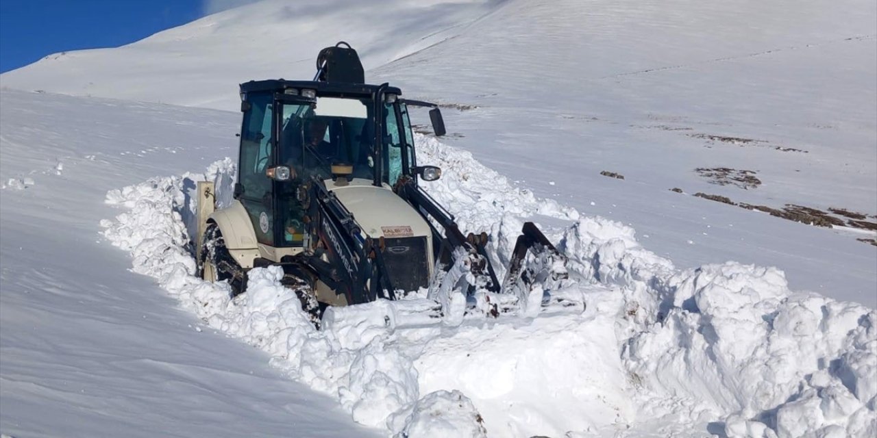
[[[588,300],[583,314],[468,318],[459,327],[317,331],[278,268],[248,292],[194,276],[186,223],[194,181],[233,166],[113,190],[128,208],[105,236],[131,251],[182,306],[272,355],[292,378],[335,395],[362,424],[400,436],[688,434],[867,436],[877,432],[877,313],[788,290],[782,272],[729,262],[678,271],[629,227],[535,198],[467,152],[417,138],[421,163],[445,169],[428,190],[493,257],[510,253],[522,217],[545,216]],[[375,312],[384,303],[369,305]],[[709,428],[714,431],[713,428]],[[454,432],[452,432],[454,431]]]

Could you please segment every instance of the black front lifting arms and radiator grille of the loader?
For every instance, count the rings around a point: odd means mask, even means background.
[[[377,238],[363,237],[353,215],[340,203],[332,192],[326,190],[322,181],[313,179],[310,186],[310,221],[308,232],[324,242],[325,251],[305,251],[284,258],[285,264],[297,265],[312,272],[336,293],[343,293],[350,304],[373,301],[378,298],[396,300],[396,290],[405,292],[428,285],[429,266],[426,259],[426,238]],[[417,187],[412,178],[400,179],[396,194],[407,201],[424,217],[430,217],[439,228],[431,226],[433,256],[442,260],[440,265],[453,265],[458,249],[465,250],[467,257],[478,263],[470,269],[479,286],[492,293],[511,292],[507,285],[523,281],[529,286],[536,280],[524,269],[528,252],[548,253],[558,260],[565,258],[533,223],[524,223],[523,234],[518,237],[511,257],[509,270],[502,283],[490,264],[486,245],[488,236],[464,235],[453,215]],[[429,221],[428,221],[429,222]],[[324,258],[324,255],[327,258]],[[474,284],[465,293],[474,293]]]

